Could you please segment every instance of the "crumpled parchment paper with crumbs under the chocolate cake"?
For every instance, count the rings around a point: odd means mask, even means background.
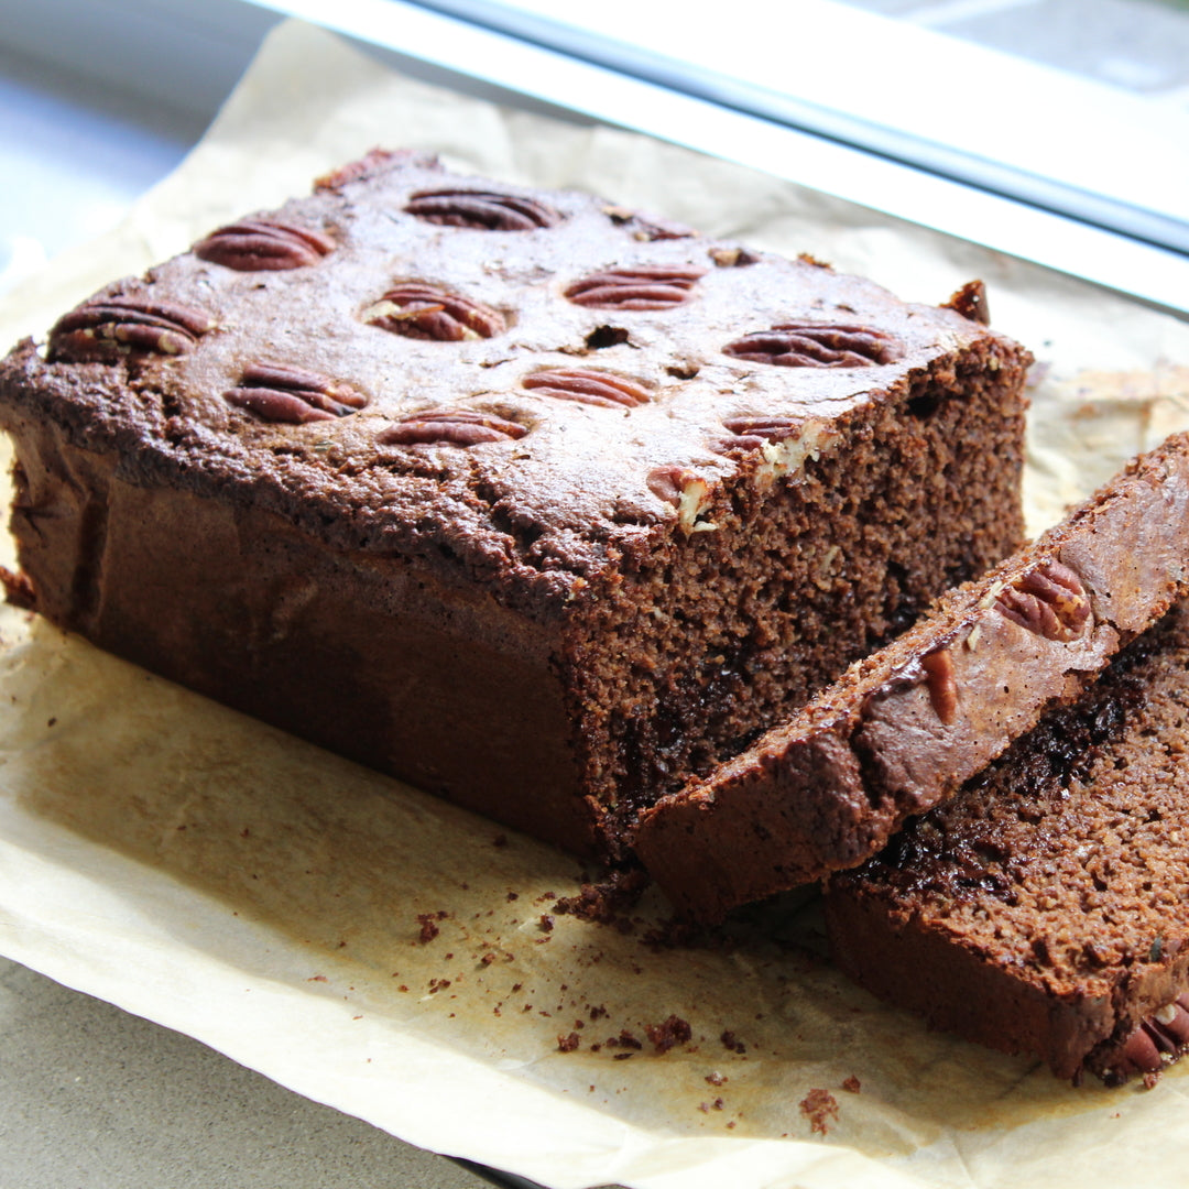
[[[724,162],[435,90],[300,24],[117,234],[0,304],[5,342],[376,144],[809,251],[910,300],[981,276],[1040,360],[1033,528],[1189,424],[1172,319]],[[558,1189],[1179,1183],[1189,1067],[1072,1090],[931,1034],[833,971],[812,906],[677,949],[648,940],[655,897],[624,931],[556,914],[574,860],[18,612],[0,634],[0,950],[63,983]],[[692,1036],[661,1051],[671,1017]],[[811,1090],[837,1107],[824,1133]]]

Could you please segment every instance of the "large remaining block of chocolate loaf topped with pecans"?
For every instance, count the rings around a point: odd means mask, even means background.
[[[983,314],[377,151],[8,356],[10,587],[615,854],[1017,545],[1028,356]]]

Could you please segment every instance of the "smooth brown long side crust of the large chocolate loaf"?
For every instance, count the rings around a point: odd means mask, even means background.
[[[239,710],[578,851],[597,849],[556,636],[407,560],[164,487],[14,432],[13,530],[38,610]]]

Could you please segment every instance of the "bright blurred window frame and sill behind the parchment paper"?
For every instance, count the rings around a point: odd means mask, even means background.
[[[421,77],[763,164],[1185,313],[1189,0],[672,13],[658,0],[0,0],[0,170],[20,180],[5,188],[0,291],[111,226],[296,15]],[[575,87],[574,62],[599,71],[597,94]],[[649,93],[686,107],[658,115]],[[709,111],[734,121],[729,143],[699,133]],[[988,214],[984,195],[1005,201]]]

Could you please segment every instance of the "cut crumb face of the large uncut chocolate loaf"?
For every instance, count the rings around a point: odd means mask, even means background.
[[[775,483],[741,467],[715,531],[625,575],[598,630],[628,659],[603,687],[630,692],[589,734],[627,829],[1019,545],[1024,364],[986,351],[873,396]]]

